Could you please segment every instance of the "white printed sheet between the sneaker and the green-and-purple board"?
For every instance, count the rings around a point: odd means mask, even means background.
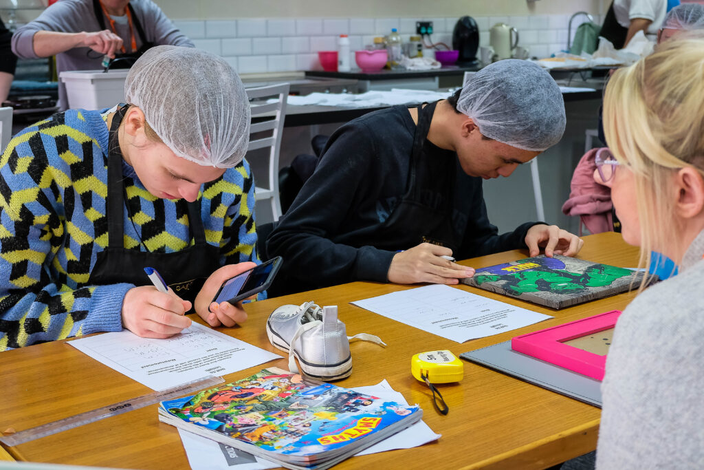
[[[391,292],[352,304],[457,342],[553,318],[442,284]]]

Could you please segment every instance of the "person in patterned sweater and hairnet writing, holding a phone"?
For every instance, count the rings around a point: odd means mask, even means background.
[[[244,85],[219,56],[157,46],[125,97],[32,125],[2,156],[0,351],[122,328],[168,338],[191,309],[210,326],[246,319],[210,304],[259,263]]]

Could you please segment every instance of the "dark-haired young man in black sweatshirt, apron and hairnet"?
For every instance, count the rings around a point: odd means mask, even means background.
[[[267,239],[267,256],[284,258],[270,292],[355,280],[456,284],[474,270],[442,256],[576,254],[582,240],[555,225],[498,235],[482,194],[482,178],[510,175],[564,130],[560,87],[514,59],[483,68],[450,99],[352,120],[329,138]]]

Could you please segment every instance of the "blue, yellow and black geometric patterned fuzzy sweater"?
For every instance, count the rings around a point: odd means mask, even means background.
[[[108,245],[108,128],[99,111],[59,113],[11,140],[0,161],[0,351],[122,328],[132,284],[88,285]],[[193,242],[184,199],[149,193],[123,162],[127,249],[178,252]],[[254,184],[243,161],[201,187],[206,239],[220,264],[259,262]]]

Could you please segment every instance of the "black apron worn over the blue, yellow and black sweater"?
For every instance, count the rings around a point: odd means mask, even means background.
[[[194,301],[206,278],[220,267],[220,249],[208,245],[201,221],[200,201],[189,202],[188,221],[194,245],[180,252],[151,253],[125,249],[124,205],[125,183],[122,176],[122,152],[118,142],[118,128],[126,106],[113,116],[108,144],[108,247],[98,253],[90,273],[89,285],[130,283],[151,285],[144,268],[151,266],[158,271],[174,292],[185,300]],[[126,201],[125,201],[126,202]]]

